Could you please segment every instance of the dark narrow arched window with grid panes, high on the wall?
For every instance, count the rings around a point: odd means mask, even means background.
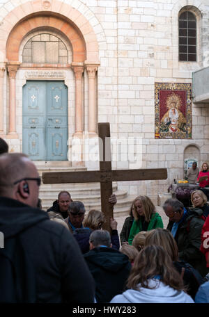
[[[185,11],[178,18],[179,60],[196,62],[196,17]]]

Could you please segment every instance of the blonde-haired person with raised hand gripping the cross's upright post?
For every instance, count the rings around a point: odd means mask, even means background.
[[[76,238],[79,247],[82,250],[82,253],[86,253],[89,251],[89,237],[91,232],[94,230],[102,229],[102,225],[105,222],[104,213],[98,210],[89,211],[86,219],[84,220],[83,226],[84,228],[75,229],[73,232],[73,236]],[[112,247],[116,250],[120,248],[120,241],[118,237],[117,230],[118,223],[115,219],[110,219],[110,227],[111,227],[111,244]]]

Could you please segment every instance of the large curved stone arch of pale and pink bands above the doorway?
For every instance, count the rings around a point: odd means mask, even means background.
[[[22,39],[26,33],[29,33],[32,29],[36,29],[38,25],[42,26],[42,24],[40,24],[40,19],[44,16],[45,20],[49,21],[51,24],[52,22],[55,22],[55,24],[53,24],[54,28],[61,30],[63,33],[69,33],[70,25],[75,31],[72,32],[72,41],[75,42],[77,40],[75,34],[77,33],[77,35],[79,35],[79,39],[83,42],[83,51],[86,51],[86,61],[91,64],[99,64],[98,40],[95,32],[93,31],[93,27],[88,22],[89,17],[92,17],[93,14],[88,12],[88,8],[86,8],[85,13],[82,14],[79,12],[79,8],[73,8],[70,4],[63,3],[58,0],[54,0],[51,4],[52,5],[50,5],[49,8],[45,8],[41,0],[22,3],[20,6],[11,10],[10,13],[3,18],[1,22],[0,41],[0,52],[2,54],[2,58],[3,54],[8,56],[6,52],[6,45],[8,46],[9,43],[12,45],[11,49],[13,51],[13,53],[10,54],[10,58],[15,60],[15,58],[17,58],[17,54],[15,53],[17,52],[14,50],[15,45],[18,44],[18,39],[20,37]],[[27,21],[28,19],[31,19],[31,17],[36,17],[36,19],[33,19],[33,21],[31,20],[30,22]],[[46,21],[43,23],[45,26],[47,26]],[[19,24],[22,24],[22,27],[19,29],[20,33],[16,33],[17,38],[13,38],[14,42],[10,42],[10,35],[14,31],[15,26],[18,26]],[[17,42],[15,42],[15,40],[17,40]],[[77,53],[82,55],[81,51],[77,51]],[[82,57],[82,61],[84,61],[84,55],[79,57],[77,56],[77,60],[74,59],[73,61],[75,63],[80,62]],[[17,59],[15,61],[17,61]]]

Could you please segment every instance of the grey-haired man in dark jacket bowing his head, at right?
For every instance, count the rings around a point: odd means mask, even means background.
[[[178,245],[179,259],[188,262],[204,277],[207,274],[206,259],[200,251],[201,229],[205,222],[201,218],[203,211],[185,209],[183,203],[176,199],[164,202],[163,209],[169,217],[167,229]]]

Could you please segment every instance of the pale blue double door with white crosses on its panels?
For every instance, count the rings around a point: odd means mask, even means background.
[[[33,161],[66,161],[68,89],[61,81],[27,81],[23,88],[22,150]]]

